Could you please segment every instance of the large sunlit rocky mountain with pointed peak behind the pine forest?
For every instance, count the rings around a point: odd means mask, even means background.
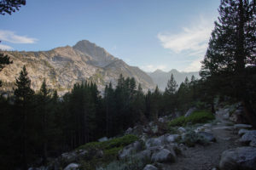
[[[48,88],[57,89],[59,94],[67,93],[73,88],[74,83],[84,80],[96,82],[102,90],[108,82],[116,85],[120,74],[124,77],[134,77],[137,84],[142,84],[144,90],[154,88],[154,82],[145,72],[127,65],[104,48],[87,40],[77,42],[73,47],[66,46],[49,51],[3,53],[8,54],[14,62],[0,72],[4,91],[12,90],[15,77],[19,77],[23,65],[26,65],[32,80],[32,88],[36,91],[44,78]]]

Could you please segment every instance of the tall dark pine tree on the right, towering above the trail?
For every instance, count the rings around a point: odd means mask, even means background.
[[[243,102],[247,120],[256,127],[256,3],[254,0],[221,0],[218,22],[212,31],[201,77],[215,94]]]

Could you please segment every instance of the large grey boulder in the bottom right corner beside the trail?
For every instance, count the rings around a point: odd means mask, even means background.
[[[221,170],[256,170],[256,148],[239,147],[225,150],[219,162]]]

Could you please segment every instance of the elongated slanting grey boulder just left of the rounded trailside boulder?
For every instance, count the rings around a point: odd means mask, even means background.
[[[131,156],[131,154],[136,153],[138,150],[143,149],[143,144],[136,141],[132,144],[125,146],[123,150],[119,151],[119,159],[124,159],[126,156]]]

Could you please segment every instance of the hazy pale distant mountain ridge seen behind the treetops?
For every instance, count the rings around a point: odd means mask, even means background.
[[[194,75],[195,78],[200,78],[199,72],[179,72],[175,69],[172,69],[169,72],[156,70],[154,72],[148,73],[149,77],[153,79],[154,83],[157,84],[158,88],[160,88],[160,90],[162,91],[165,90],[167,82],[171,78],[172,74],[177,84],[180,84],[181,82],[183,82],[186,77],[188,77],[190,80],[192,75]]]

